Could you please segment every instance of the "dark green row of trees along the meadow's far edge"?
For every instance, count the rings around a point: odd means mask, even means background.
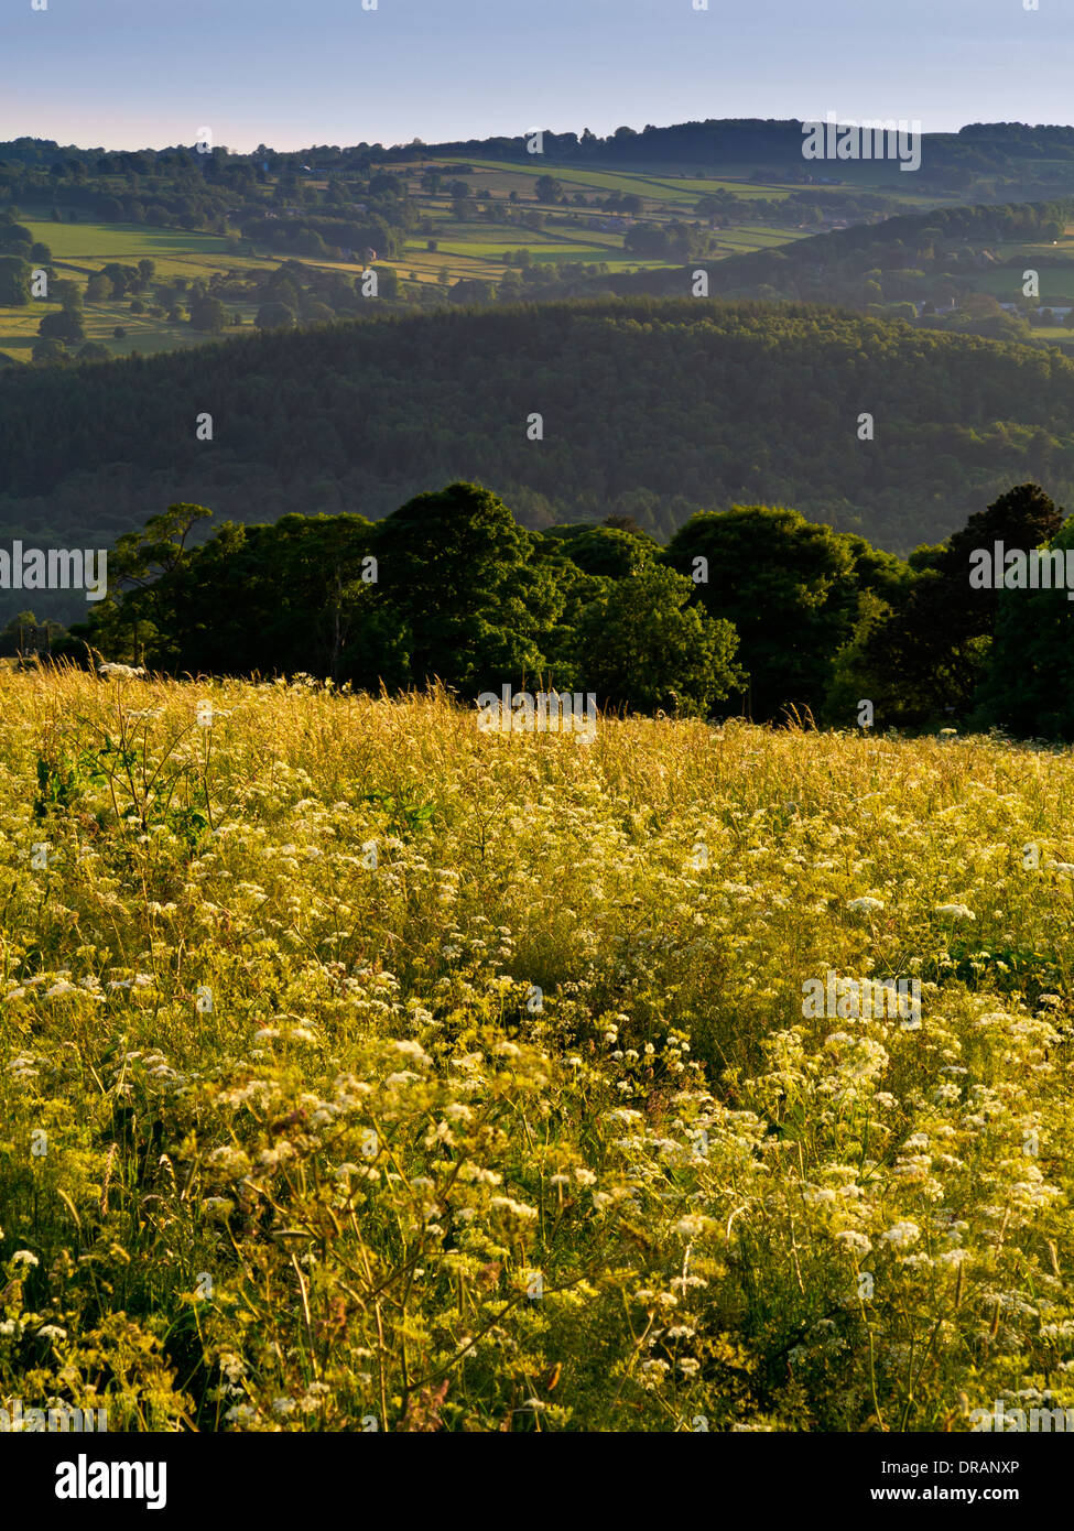
[[[380,522],[291,514],[198,542],[210,514],[176,504],[152,517],[120,539],[87,622],[66,634],[23,612],[0,649],[175,675],[302,672],[374,694],[440,681],[473,700],[507,684],[677,717],[1074,738],[1063,579],[971,577],[997,542],[1020,550],[1007,566],[1042,547],[1062,565],[1074,548],[1074,517],[1033,484],[909,560],[766,505],[693,516],[665,547],[619,516],[530,531],[464,482]]]

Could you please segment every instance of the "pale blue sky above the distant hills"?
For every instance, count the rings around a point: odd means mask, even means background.
[[[1071,124],[1074,5],[1031,3],[0,0],[0,139],[161,149],[207,127],[248,152],[827,112]]]

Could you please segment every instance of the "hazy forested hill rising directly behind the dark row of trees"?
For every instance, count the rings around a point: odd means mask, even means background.
[[[907,553],[1013,481],[1069,496],[1072,423],[1056,352],[821,308],[458,308],[100,363],[92,387],[3,374],[0,527],[101,547],[173,501],[378,519],[469,479],[535,528],[628,514],[670,537],[765,502]]]

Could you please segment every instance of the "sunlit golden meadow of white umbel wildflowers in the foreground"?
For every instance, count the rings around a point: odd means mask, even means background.
[[[0,1395],[1072,1405],[1072,810],[1069,750],[1000,738],[0,671]],[[806,1018],[829,971],[919,980],[919,1024]]]

